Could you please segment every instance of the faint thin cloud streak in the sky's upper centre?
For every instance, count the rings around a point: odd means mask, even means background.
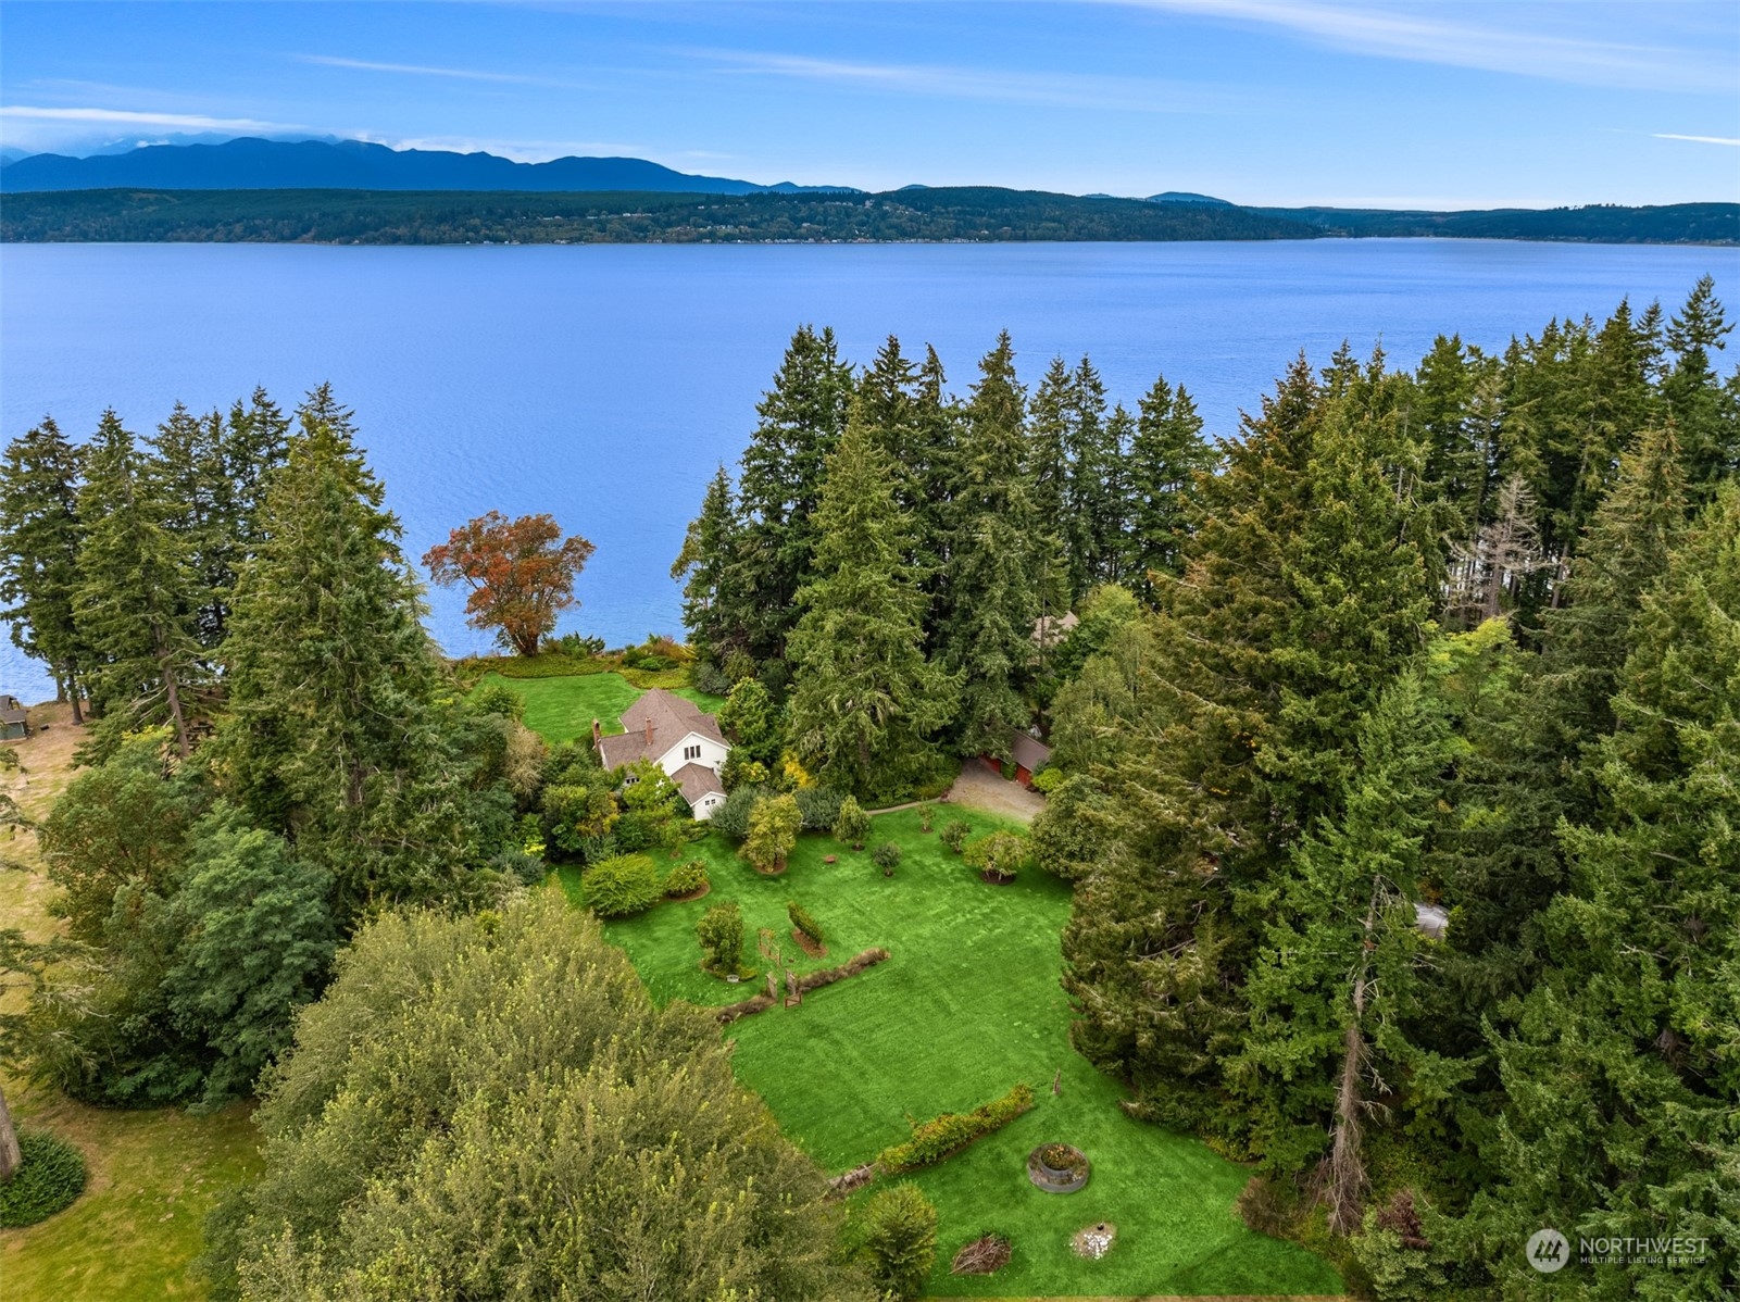
[[[893,94],[1138,113],[1209,113],[1225,104],[1225,94],[1218,87],[1140,77],[992,71],[920,63],[853,63],[849,59],[760,50],[686,49],[679,52],[712,61],[720,73],[788,77]]]

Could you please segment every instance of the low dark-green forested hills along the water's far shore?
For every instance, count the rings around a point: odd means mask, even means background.
[[[7,195],[0,240],[776,244],[1472,238],[1740,244],[1740,204],[1550,212],[1336,212],[940,186],[840,193],[66,190]]]

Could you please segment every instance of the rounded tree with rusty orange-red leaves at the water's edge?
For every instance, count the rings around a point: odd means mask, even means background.
[[[574,580],[593,550],[579,534],[562,538],[553,515],[510,520],[492,510],[425,552],[423,564],[442,587],[472,587],[466,623],[494,628],[505,648],[536,656],[538,639],[576,604]]]

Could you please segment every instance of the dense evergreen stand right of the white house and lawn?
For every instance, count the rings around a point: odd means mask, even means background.
[[[1573,1260],[1556,1295],[1714,1299],[1730,331],[1705,280],[1413,371],[1343,346],[1211,447],[1164,378],[1134,411],[1088,359],[1028,392],[1004,336],[957,399],[934,352],[854,372],[804,329],[673,571],[691,646],[860,792],[1044,729],[1075,1044],[1256,1164],[1253,1225],[1397,1299],[1531,1295],[1542,1227],[1681,1236],[1696,1260]]]

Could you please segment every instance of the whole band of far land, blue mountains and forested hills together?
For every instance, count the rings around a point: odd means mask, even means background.
[[[1441,237],[1740,244],[1740,204],[1481,212],[1242,207],[999,186],[757,185],[644,158],[517,164],[364,141],[146,144],[0,165],[0,240],[590,244],[814,240],[1300,240]]]

